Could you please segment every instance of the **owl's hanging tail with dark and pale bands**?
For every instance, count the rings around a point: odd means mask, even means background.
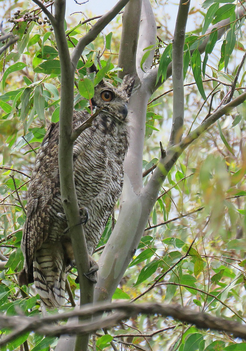
[[[61,244],[42,244],[33,260],[33,276],[37,292],[47,308],[64,304],[66,264]]]

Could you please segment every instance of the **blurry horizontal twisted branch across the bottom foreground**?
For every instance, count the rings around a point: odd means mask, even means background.
[[[189,287],[190,286],[185,286]],[[203,292],[203,291],[202,291]],[[206,292],[203,292],[206,293]],[[213,296],[214,298],[214,296]],[[226,306],[228,307],[228,306]],[[80,324],[73,324],[70,326],[56,325],[54,322],[66,320],[67,318],[75,316],[93,316],[100,313],[116,311],[107,317],[95,319],[93,322],[86,322]],[[145,314],[147,316],[155,315],[162,317],[172,317],[175,320],[187,324],[194,324],[199,329],[217,330],[226,332],[234,337],[246,339],[246,326],[239,322],[225,318],[218,318],[211,316],[211,314],[204,312],[197,312],[187,307],[178,305],[157,304],[157,303],[142,303],[133,304],[125,302],[116,303],[102,303],[96,305],[88,305],[83,310],[74,310],[67,313],[47,315],[42,319],[39,317],[26,317],[26,316],[7,316],[0,314],[0,325],[13,332],[8,334],[5,338],[1,338],[0,346],[6,345],[16,337],[28,331],[35,331],[40,335],[57,336],[62,334],[75,335],[77,333],[91,333],[98,329],[112,327],[121,322],[122,319],[134,318],[138,314]],[[240,317],[240,316],[239,316]]]

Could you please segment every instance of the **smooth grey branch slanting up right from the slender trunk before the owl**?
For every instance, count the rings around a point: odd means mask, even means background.
[[[78,41],[73,54],[71,55],[71,62],[74,69],[77,67],[78,60],[86,45],[90,44],[91,41],[95,40],[97,35],[109,24],[109,22],[115,18],[115,16],[122,10],[122,8],[129,2],[129,0],[119,0],[117,4],[103,15],[89,30],[89,32],[84,35]]]

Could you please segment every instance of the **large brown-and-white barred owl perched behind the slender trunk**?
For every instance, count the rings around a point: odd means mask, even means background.
[[[123,186],[123,161],[128,150],[127,102],[134,78],[125,76],[115,88],[104,80],[95,87],[94,106],[103,110],[75,141],[73,163],[79,207],[87,207],[84,224],[89,255],[93,254]],[[74,112],[74,128],[89,118]],[[35,282],[47,307],[64,302],[66,269],[74,260],[62,213],[58,167],[59,122],[52,123],[36,156],[30,179],[27,218],[21,249],[25,258],[20,285]]]

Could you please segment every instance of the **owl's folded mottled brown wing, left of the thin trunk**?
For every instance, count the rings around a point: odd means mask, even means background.
[[[27,218],[21,243],[26,261],[26,271],[32,269],[34,253],[48,236],[49,203],[60,192],[58,135],[58,124],[50,125],[37,153],[30,179]]]

